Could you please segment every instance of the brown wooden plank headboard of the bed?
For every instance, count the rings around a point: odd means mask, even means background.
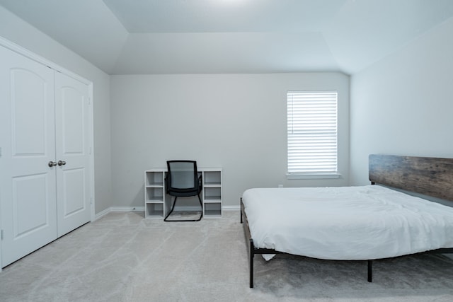
[[[369,180],[453,201],[453,158],[372,154]]]

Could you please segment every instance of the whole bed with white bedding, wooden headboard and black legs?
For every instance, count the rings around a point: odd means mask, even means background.
[[[453,252],[453,208],[400,192],[453,201],[453,158],[370,155],[369,180],[360,187],[243,192],[250,287],[257,254],[365,260],[371,282],[372,260]]]

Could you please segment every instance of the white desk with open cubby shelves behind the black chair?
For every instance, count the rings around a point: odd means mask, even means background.
[[[153,168],[144,172],[144,216],[164,219],[171,207],[166,196],[165,168]],[[222,168],[198,168],[202,175],[203,218],[222,217]]]

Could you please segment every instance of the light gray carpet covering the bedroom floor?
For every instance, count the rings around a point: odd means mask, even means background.
[[[248,254],[239,211],[164,222],[110,213],[0,273],[0,301],[453,301],[453,261],[415,255],[374,262]]]

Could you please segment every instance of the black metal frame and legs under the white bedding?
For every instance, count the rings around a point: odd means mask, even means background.
[[[373,183],[374,185],[374,183]],[[244,218],[244,219],[243,219]],[[245,222],[245,223],[244,223]],[[250,260],[250,279],[249,279],[249,286],[252,289],[253,288],[253,258],[255,255],[263,255],[263,254],[282,254],[282,255],[292,255],[287,252],[280,252],[278,250],[270,249],[270,248],[256,248],[255,245],[253,244],[253,238],[251,238],[251,233],[250,233],[250,227],[248,226],[248,219],[247,215],[242,203],[242,197],[241,197],[241,223],[243,223],[243,229],[244,233],[246,236],[246,240],[248,243],[248,249],[249,249],[249,260]],[[453,248],[440,248],[437,250],[429,250],[427,252],[420,252],[419,254],[428,254],[428,253],[435,253],[435,254],[448,254],[448,253],[453,253]],[[361,260],[357,260],[361,261]],[[373,266],[373,260],[362,260],[362,261],[367,261],[367,281],[372,282],[372,266]]]

